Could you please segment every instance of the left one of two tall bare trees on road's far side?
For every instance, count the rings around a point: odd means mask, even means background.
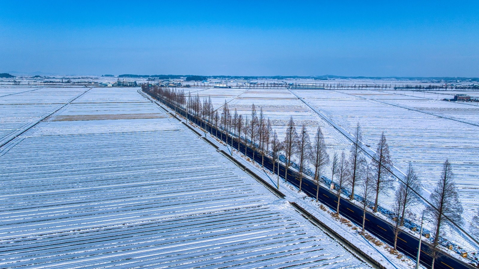
[[[364,173],[364,166],[366,160],[364,158],[363,153],[361,152],[361,148],[359,147],[359,143],[362,139],[361,128],[359,127],[359,123],[356,126],[355,133],[354,133],[354,143],[351,146],[350,152],[350,160],[349,164],[349,185],[351,186],[351,195],[349,199],[354,199],[354,187],[358,183],[358,179],[361,178],[361,174]]]

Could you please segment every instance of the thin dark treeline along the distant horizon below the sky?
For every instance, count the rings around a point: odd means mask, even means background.
[[[467,77],[365,77],[365,76],[335,76],[335,75],[322,75],[322,76],[200,76],[200,75],[135,75],[135,74],[122,74],[118,75],[119,78],[155,78],[160,80],[169,80],[169,79],[182,79],[185,78],[186,81],[203,81],[206,79],[242,79],[242,80],[259,80],[259,79],[275,79],[275,80],[284,80],[284,79],[313,79],[313,80],[332,80],[332,79],[371,79],[371,80],[381,80],[381,79],[397,79],[397,80],[428,80],[428,81],[445,81],[445,82],[457,82],[457,81],[468,81],[468,82],[479,82],[479,78],[467,78]]]

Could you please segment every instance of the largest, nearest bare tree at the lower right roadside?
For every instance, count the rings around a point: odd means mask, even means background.
[[[461,217],[463,208],[454,184],[452,167],[447,160],[443,164],[441,178],[433,189],[429,200],[432,206],[426,208],[426,213],[431,218],[434,227],[434,240],[430,253],[433,258],[432,269],[434,269],[434,261],[439,254],[439,237],[443,233],[444,226],[454,227],[454,223],[463,224]]]

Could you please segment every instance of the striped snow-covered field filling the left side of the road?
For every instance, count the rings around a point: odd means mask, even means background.
[[[0,151],[1,268],[368,267],[137,89],[87,90],[0,98],[67,104]]]

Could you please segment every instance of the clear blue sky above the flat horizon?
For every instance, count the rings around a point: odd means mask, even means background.
[[[4,1],[4,71],[479,77],[479,1]]]

